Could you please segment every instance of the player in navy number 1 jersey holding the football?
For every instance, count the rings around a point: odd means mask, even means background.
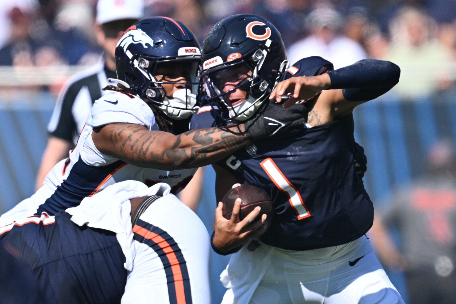
[[[280,33],[255,15],[218,22],[203,42],[210,104],[191,128],[249,121],[269,100],[299,103],[306,118],[300,134],[255,140],[213,165],[219,201],[244,183],[268,192],[275,208],[264,231],[266,215],[239,221],[238,200],[227,220],[218,203],[212,247],[234,253],[221,275],[223,303],[404,303],[365,236],[373,205],[356,174],[352,118],[357,105],[394,87],[400,69],[362,60],[333,70],[321,57],[286,66]]]

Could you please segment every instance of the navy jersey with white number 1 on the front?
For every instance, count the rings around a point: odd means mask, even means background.
[[[221,125],[218,111],[200,108],[191,129]],[[292,138],[255,141],[217,163],[273,199],[274,220],[262,242],[310,250],[351,242],[369,230],[373,205],[355,171],[353,128],[348,115]]]

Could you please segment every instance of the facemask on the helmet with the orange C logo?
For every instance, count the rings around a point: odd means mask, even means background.
[[[230,60],[230,55],[227,62],[202,70],[201,78],[209,97],[208,101],[213,100],[220,108],[228,110],[229,119],[226,120],[249,119],[268,101],[269,93],[281,73],[277,73],[273,80],[261,77],[260,71],[267,55],[267,47],[259,46],[240,58]],[[246,94],[239,93],[238,89]]]

